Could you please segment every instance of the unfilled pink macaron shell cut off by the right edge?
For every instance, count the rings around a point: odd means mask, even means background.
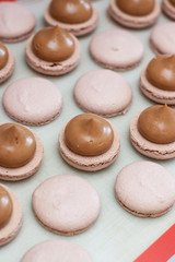
[[[158,24],[151,32],[150,45],[156,55],[175,53],[175,22]]]

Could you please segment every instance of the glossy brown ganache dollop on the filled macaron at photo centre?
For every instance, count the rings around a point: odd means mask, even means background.
[[[96,115],[79,115],[65,130],[67,146],[84,156],[97,156],[108,151],[114,141],[113,129],[105,119]]]

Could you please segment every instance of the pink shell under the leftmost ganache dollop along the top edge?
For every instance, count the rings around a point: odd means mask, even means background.
[[[51,26],[55,26],[58,24],[61,28],[72,33],[75,36],[86,35],[90,32],[94,31],[97,26],[98,13],[93,7],[92,7],[91,19],[88,20],[86,22],[79,23],[79,24],[66,24],[66,23],[55,20],[50,15],[49,8],[50,8],[50,4],[46,7],[45,12],[44,12],[44,17],[45,17],[46,23]]]

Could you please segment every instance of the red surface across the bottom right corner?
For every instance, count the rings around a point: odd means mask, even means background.
[[[175,224],[133,262],[166,262],[175,253]]]

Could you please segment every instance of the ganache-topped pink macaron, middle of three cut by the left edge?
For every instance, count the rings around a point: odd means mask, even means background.
[[[34,175],[43,160],[40,139],[20,123],[0,126],[0,179],[18,181]]]

